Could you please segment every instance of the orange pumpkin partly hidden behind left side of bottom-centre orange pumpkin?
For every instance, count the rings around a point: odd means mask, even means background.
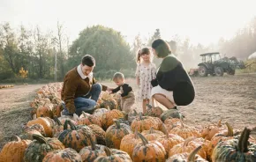
[[[121,140],[120,150],[127,152],[132,157],[132,152],[136,144],[141,142],[138,136],[138,130],[135,129],[134,133],[125,135]]]

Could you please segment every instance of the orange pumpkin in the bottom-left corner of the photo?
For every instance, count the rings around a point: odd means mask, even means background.
[[[11,141],[4,144],[4,147],[0,152],[0,162],[24,161],[24,152],[31,141],[21,140],[19,136],[16,136],[16,138],[17,141]]]

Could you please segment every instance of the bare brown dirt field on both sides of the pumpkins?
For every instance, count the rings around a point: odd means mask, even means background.
[[[256,75],[192,77],[192,81],[196,98],[190,106],[180,107],[184,123],[203,126],[222,119],[235,129],[256,126]],[[135,80],[127,83],[136,87]],[[113,83],[103,84],[115,87]],[[0,150],[31,120],[29,103],[41,86],[15,85],[0,90]],[[140,109],[141,104],[137,102],[136,107]]]

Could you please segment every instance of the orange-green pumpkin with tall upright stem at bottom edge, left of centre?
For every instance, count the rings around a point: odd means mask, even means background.
[[[82,157],[82,161],[94,161],[94,159],[99,156],[107,156],[104,151],[106,146],[95,144],[95,141],[91,136],[90,140],[92,145],[86,146],[79,151],[79,155]]]

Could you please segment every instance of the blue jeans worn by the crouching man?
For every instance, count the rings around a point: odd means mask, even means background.
[[[91,91],[88,92],[86,96],[78,97],[78,98],[74,99],[74,104],[76,107],[75,113],[80,115],[80,114],[82,114],[82,111],[87,113],[87,112],[91,112],[92,110],[94,110],[94,107],[97,104],[97,100],[99,99],[101,92],[102,92],[102,85],[94,84],[94,85],[92,85]],[[89,99],[89,98],[91,98],[91,99]],[[63,103],[63,106],[64,106],[64,110],[63,110],[62,114],[71,115],[69,113],[69,111],[67,110],[67,108],[65,107],[64,103]]]

